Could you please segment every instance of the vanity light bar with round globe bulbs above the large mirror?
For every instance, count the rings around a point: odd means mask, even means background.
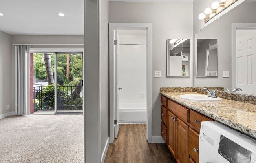
[[[198,15],[200,20],[205,20],[205,23],[208,22],[211,18],[218,15],[221,11],[225,10],[230,5],[234,4],[238,0],[220,0],[221,2],[214,1],[212,2],[211,8],[207,7],[204,10],[204,13]]]

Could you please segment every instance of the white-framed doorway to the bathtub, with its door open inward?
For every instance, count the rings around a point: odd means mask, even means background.
[[[121,123],[146,123],[151,142],[151,24],[110,23],[110,143]]]

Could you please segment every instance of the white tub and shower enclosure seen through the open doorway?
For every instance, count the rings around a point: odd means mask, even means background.
[[[143,32],[133,35],[134,31]],[[119,118],[121,123],[145,123],[146,30],[129,30],[126,35],[119,35],[119,38],[119,86],[122,87],[119,91]]]

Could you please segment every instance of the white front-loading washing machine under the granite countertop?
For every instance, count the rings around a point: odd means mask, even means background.
[[[256,163],[256,140],[219,122],[202,122],[199,163]]]

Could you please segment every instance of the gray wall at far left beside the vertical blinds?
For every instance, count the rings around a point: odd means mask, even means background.
[[[11,35],[0,31],[0,115],[14,111],[14,85]],[[9,109],[6,109],[9,105]]]

